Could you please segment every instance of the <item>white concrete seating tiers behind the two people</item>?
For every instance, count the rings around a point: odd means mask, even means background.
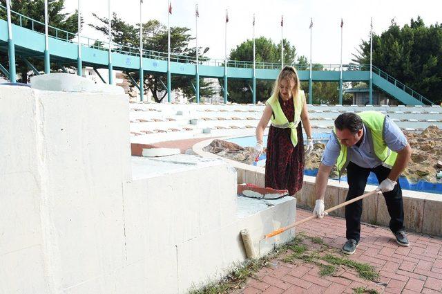
[[[253,136],[264,109],[263,104],[132,103],[130,107],[133,143],[236,134]],[[401,129],[408,131],[422,131],[430,125],[442,128],[441,107],[309,105],[309,116],[314,131],[329,132],[340,113],[367,110],[387,114]]]

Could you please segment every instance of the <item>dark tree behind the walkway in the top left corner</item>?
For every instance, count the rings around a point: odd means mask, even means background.
[[[2,1],[3,3],[3,1]],[[6,6],[6,3],[3,3]],[[31,19],[35,19],[37,21],[41,21],[44,23],[44,0],[15,0],[11,1],[11,10],[15,12],[19,12],[21,15],[26,15]],[[64,0],[48,0],[48,19],[49,25],[54,26],[55,28],[61,28],[62,30],[66,30],[70,33],[77,33],[77,11],[73,14],[69,15],[68,13],[64,13]],[[0,18],[6,19],[6,10],[0,10]],[[11,19],[13,24],[20,24],[19,16],[14,13],[11,14]],[[22,18],[21,25],[24,28],[32,28],[32,23],[28,19]],[[34,23],[34,30],[44,33],[44,25]],[[55,35],[53,29],[48,31],[49,35]],[[59,37],[63,37],[63,33],[59,34]],[[41,55],[41,54],[38,54]],[[44,61],[37,57],[27,57],[28,60],[34,64],[36,68],[44,68]],[[28,82],[28,72],[30,68],[24,64],[20,55],[15,57],[16,61],[16,71],[19,75],[19,82],[26,83]],[[0,63],[8,64],[9,57],[8,54],[0,55]],[[52,64],[51,68],[57,68],[57,64]]]

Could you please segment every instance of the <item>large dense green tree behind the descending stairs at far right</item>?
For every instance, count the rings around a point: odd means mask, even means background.
[[[353,61],[369,64],[369,40],[362,40]],[[400,28],[394,19],[388,30],[373,35],[373,64],[432,100],[442,101],[442,24],[425,26],[411,19]]]

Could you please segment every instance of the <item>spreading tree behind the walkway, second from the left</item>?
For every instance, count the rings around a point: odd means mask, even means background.
[[[108,19],[98,17],[94,14],[94,16],[100,21],[99,25],[90,25],[91,27],[99,30],[104,33],[104,35],[108,35]],[[120,44],[122,46],[131,46],[138,48],[140,46],[140,28],[139,26],[133,26],[131,24],[127,24],[121,18],[117,17],[117,14],[113,14],[112,19],[112,41]],[[158,53],[162,53],[162,59],[166,60],[166,55],[164,53],[167,52],[167,28],[160,21],[156,19],[151,19],[146,23],[142,24],[143,26],[143,48],[144,50],[153,50]],[[193,62],[192,57],[195,57],[196,50],[195,48],[189,47],[189,43],[193,40],[189,33],[190,29],[185,27],[171,27],[171,59],[176,58],[177,55],[180,55],[180,58],[189,57],[189,62]],[[200,59],[204,61],[206,57],[204,57],[203,52],[206,53],[206,50],[200,51]],[[129,74],[129,73],[128,73]],[[140,73],[135,71],[130,73],[135,81],[140,80]],[[184,95],[190,99],[195,98],[195,91],[193,90],[192,84],[195,83],[193,76],[186,75],[172,75],[171,86],[172,90],[181,90]],[[148,73],[144,75],[144,90],[151,91],[155,102],[161,102],[167,95],[167,91],[165,91],[163,84],[166,84],[166,75],[164,73]],[[205,82],[204,80],[200,80],[200,95],[202,97],[213,95],[213,91],[211,90],[210,84]]]

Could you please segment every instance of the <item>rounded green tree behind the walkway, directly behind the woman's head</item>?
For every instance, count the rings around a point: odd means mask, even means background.
[[[259,37],[255,39],[256,62],[281,62],[281,45],[274,44],[271,39]],[[284,64],[294,64],[296,48],[284,40]],[[235,49],[231,50],[229,60],[242,60],[253,62],[253,40],[247,39]],[[220,79],[220,84],[223,85]],[[256,80],[256,100],[267,100],[273,91],[274,80]],[[229,101],[237,103],[251,103],[251,80],[229,80]],[[222,95],[222,93],[220,93]]]

